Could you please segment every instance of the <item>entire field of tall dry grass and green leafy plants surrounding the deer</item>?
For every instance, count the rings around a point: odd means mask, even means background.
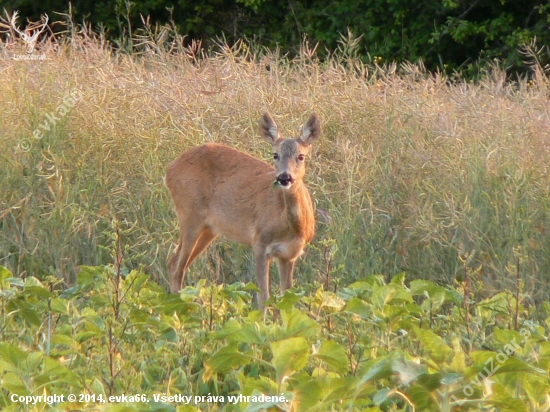
[[[542,67],[511,81],[495,65],[472,82],[421,64],[363,64],[345,39],[319,61],[306,44],[289,58],[169,35],[151,31],[123,53],[83,31],[40,45],[43,60],[14,58],[25,54],[18,42],[0,46],[3,409],[18,410],[14,391],[66,385],[104,396],[248,387],[296,400],[222,402],[227,410],[550,408]],[[251,251],[223,239],[192,266],[181,299],[166,293],[179,229],[163,182],[175,157],[209,141],[269,161],[264,111],[287,136],[319,115],[307,184],[329,216],[267,323],[253,310]],[[506,352],[515,338],[524,345]],[[509,358],[503,381],[460,403],[498,348]],[[154,370],[147,353],[159,356]],[[535,376],[533,387],[510,374]]]

